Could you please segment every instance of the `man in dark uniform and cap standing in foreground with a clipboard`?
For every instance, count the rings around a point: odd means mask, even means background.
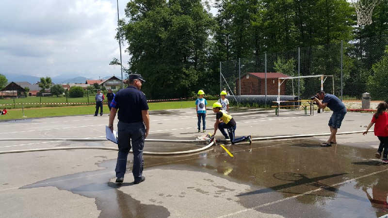
[[[116,163],[116,183],[124,181],[127,157],[133,151],[132,174],[134,184],[146,180],[143,176],[143,147],[149,132],[149,115],[146,95],[140,91],[145,80],[140,74],[129,75],[129,86],[116,93],[111,103],[108,127],[113,131],[113,121],[118,110],[118,156]]]

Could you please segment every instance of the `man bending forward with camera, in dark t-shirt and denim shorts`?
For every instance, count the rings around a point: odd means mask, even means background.
[[[333,114],[329,120],[330,137],[326,142],[323,142],[321,146],[331,146],[331,144],[337,143],[336,134],[337,129],[341,126],[342,120],[346,114],[346,107],[341,100],[334,94],[326,94],[323,90],[319,91],[317,95],[311,97],[315,101],[319,109],[328,107],[333,111]],[[323,100],[322,102],[320,100]]]

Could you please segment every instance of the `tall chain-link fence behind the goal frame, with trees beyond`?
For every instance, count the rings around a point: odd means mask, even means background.
[[[383,35],[221,62],[220,88],[232,101],[259,106],[274,105],[278,94],[280,100],[309,99],[322,86],[341,100],[361,100],[368,92],[383,101],[388,87],[379,72],[388,74],[387,64],[381,64],[388,61],[387,45]],[[279,79],[300,76],[316,77]]]

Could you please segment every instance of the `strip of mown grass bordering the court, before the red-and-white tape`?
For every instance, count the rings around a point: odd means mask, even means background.
[[[215,100],[208,101],[208,108],[211,108],[214,102],[216,101]],[[155,103],[148,103],[148,107],[149,107],[149,110],[195,108],[195,101],[155,102]],[[3,107],[1,107],[1,109],[2,108]],[[0,115],[0,121],[24,119],[22,109],[9,108],[7,110],[10,114]],[[87,114],[94,115],[95,110],[96,110],[95,104],[91,106],[29,108],[29,109],[25,108],[24,116],[27,118],[36,118],[36,117],[87,115]],[[107,105],[104,105],[103,111],[105,116],[109,114],[109,109]]]

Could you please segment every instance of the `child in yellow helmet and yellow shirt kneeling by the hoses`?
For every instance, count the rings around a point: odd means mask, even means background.
[[[230,116],[228,113],[226,113],[225,110],[222,110],[222,105],[219,102],[216,102],[213,104],[213,112],[216,113],[216,121],[214,123],[214,134],[217,132],[217,129],[219,129],[224,135],[225,139],[230,139],[230,142],[232,144],[235,144],[240,141],[248,140],[249,144],[252,143],[252,137],[249,136],[242,136],[240,138],[235,139],[234,138],[234,131],[236,130],[236,121],[234,121],[233,117]],[[225,129],[227,130],[228,135],[226,135]]]

